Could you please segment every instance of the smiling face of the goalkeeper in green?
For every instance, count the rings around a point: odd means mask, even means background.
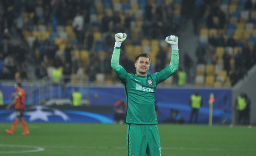
[[[140,57],[134,65],[136,67],[136,74],[140,76],[147,76],[148,69],[150,67],[150,60],[148,57]]]

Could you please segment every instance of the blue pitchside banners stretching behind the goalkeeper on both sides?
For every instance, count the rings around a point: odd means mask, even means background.
[[[29,90],[28,86],[23,87]],[[12,101],[10,94],[14,91],[13,86],[3,86],[5,104]],[[83,94],[83,99],[89,99],[89,106],[72,107],[69,103],[64,106],[52,105],[34,105],[39,98],[36,87],[33,88],[33,100],[26,97],[25,119],[31,122],[100,122],[113,123],[113,105],[119,99],[125,99],[124,88],[114,87],[92,87],[89,89],[79,88]],[[59,89],[56,87],[45,88],[44,95],[41,98],[49,97],[58,99]],[[52,90],[52,91],[47,91]],[[73,88],[66,88],[61,93],[61,98],[70,98]],[[209,119],[209,95],[214,94],[213,103],[213,124],[229,124],[231,122],[232,102],[230,89],[197,89],[202,96],[203,106],[199,110],[198,123],[207,124]],[[28,91],[27,91],[28,92]],[[156,105],[158,108],[158,122],[164,123],[171,116],[171,110],[179,112],[179,118],[185,123],[189,122],[191,107],[189,105],[190,96],[195,92],[191,88],[157,88],[155,94]],[[9,94],[9,95],[8,95]],[[50,95],[51,94],[51,95]],[[87,97],[89,95],[89,97]],[[29,95],[28,95],[29,96]],[[0,109],[0,122],[12,121],[14,110]]]

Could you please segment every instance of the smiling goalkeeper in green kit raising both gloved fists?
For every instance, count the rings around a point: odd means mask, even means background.
[[[173,35],[166,37],[166,42],[172,45],[172,59],[168,67],[154,74],[148,74],[151,60],[145,53],[135,58],[136,74],[127,73],[119,65],[120,47],[126,37],[125,33],[115,34],[116,43],[111,67],[124,85],[128,103],[125,120],[128,124],[126,137],[128,156],[161,156],[154,95],[157,85],[178,69],[178,37]]]

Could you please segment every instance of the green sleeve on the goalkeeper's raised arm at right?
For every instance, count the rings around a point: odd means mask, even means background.
[[[172,50],[172,58],[168,67],[157,73],[157,83],[163,82],[170,77],[179,67],[179,50]]]

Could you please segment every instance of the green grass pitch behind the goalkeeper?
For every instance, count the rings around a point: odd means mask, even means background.
[[[127,156],[127,125],[28,123],[31,134],[15,134],[0,123],[0,156]],[[256,128],[158,125],[162,156],[255,156]]]

